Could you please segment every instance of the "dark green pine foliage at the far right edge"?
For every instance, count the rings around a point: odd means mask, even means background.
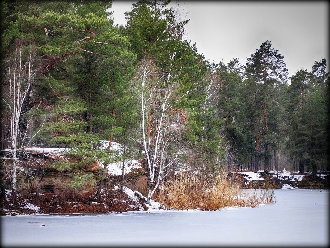
[[[317,66],[315,62],[314,72],[317,71]],[[312,169],[314,174],[317,168],[322,168],[328,160],[328,103],[324,85],[318,82],[322,82],[321,77],[315,78],[311,72],[300,70],[291,77],[291,85],[287,89],[290,97],[287,147],[291,156],[307,169]]]

